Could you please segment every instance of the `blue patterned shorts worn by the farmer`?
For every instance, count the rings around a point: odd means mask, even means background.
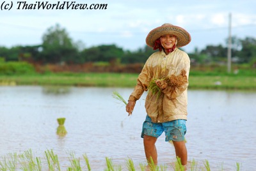
[[[184,135],[186,134],[186,120],[178,119],[166,123],[152,123],[151,118],[147,115],[146,120],[143,123],[141,138],[144,135],[151,137],[160,137],[162,133],[165,133],[165,141],[184,141]]]

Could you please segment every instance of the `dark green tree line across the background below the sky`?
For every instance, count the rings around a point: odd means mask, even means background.
[[[65,28],[59,24],[49,27],[42,36],[42,44],[31,46],[0,47],[1,61],[28,61],[37,64],[84,64],[84,63],[145,63],[154,52],[152,48],[139,48],[131,52],[115,44],[84,48],[83,42],[74,42]],[[227,61],[227,47],[207,45],[202,50],[195,48],[189,53],[191,63],[221,63]],[[255,63],[256,39],[232,37],[233,63]]]

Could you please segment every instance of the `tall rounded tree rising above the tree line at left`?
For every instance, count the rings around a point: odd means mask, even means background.
[[[43,35],[40,59],[45,63],[71,63],[77,58],[77,51],[67,31],[56,24]]]

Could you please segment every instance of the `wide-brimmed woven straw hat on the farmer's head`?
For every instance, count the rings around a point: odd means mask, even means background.
[[[150,33],[148,33],[148,36],[146,38],[147,45],[149,47],[154,47],[155,41],[166,34],[173,34],[177,36],[177,47],[184,47],[185,45],[188,45],[188,43],[191,41],[191,36],[188,31],[186,31],[182,27],[173,26],[172,24],[166,23],[160,27],[156,27],[156,29],[153,29],[152,31],[150,31]]]

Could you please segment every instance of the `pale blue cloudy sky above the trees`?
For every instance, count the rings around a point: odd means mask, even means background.
[[[145,38],[152,29],[170,23],[191,34],[191,43],[183,49],[195,52],[195,48],[201,50],[207,45],[227,46],[230,14],[232,36],[256,38],[255,0],[48,0],[48,3],[53,5],[58,1],[60,4],[73,1],[88,7],[108,5],[106,10],[26,10],[22,9],[24,3],[35,6],[47,1],[0,1],[0,46],[40,45],[47,29],[59,24],[82,48],[115,44],[134,51],[145,47]],[[12,3],[10,10],[4,10]]]

